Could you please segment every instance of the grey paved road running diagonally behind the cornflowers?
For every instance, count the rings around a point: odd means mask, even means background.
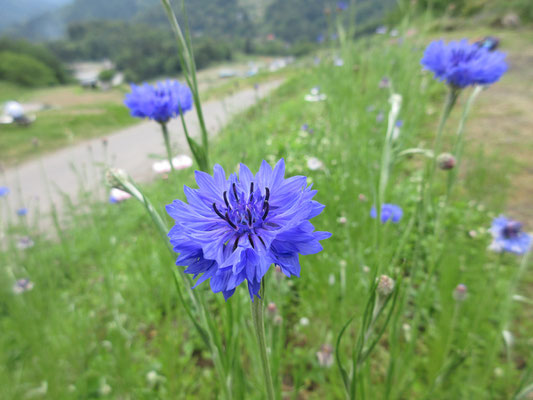
[[[252,88],[245,89],[223,100],[204,103],[204,117],[210,135],[218,133],[233,115],[253,105],[281,83],[282,80],[264,83],[257,92]],[[187,113],[185,120],[191,135],[198,136],[200,129],[196,113]],[[178,120],[170,123],[169,131],[176,152],[189,153]],[[153,121],[144,121],[107,136],[107,146],[103,145],[101,138],[92,139],[8,169],[0,176],[0,186],[11,188],[12,193],[8,197],[11,210],[24,205],[30,211],[40,209],[42,213],[47,213],[51,202],[61,209],[65,195],[76,204],[81,185],[84,190],[94,187],[102,192],[101,175],[95,164],[122,168],[140,182],[153,179],[152,164],[155,160],[150,156],[154,154],[165,154],[160,127]],[[5,218],[7,208],[0,207],[0,211],[2,208]]]

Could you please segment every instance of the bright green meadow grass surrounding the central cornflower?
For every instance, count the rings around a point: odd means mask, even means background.
[[[432,146],[445,89],[421,72],[425,43],[426,38],[402,45],[371,38],[339,50],[343,67],[324,59],[292,77],[212,144],[212,160],[226,171],[244,162],[255,172],[263,159],[285,158],[288,175],[307,175],[326,205],[315,224],[333,233],[324,251],[302,257],[299,279],[273,269],[267,275],[266,302],[276,304],[267,340],[284,398],[344,398],[338,369],[321,365],[317,352],[336,347],[339,331],[355,316],[338,348],[348,363],[378,270],[401,281],[400,291],[384,336],[360,369],[357,398],[518,399],[519,388],[533,379],[531,278],[517,288],[520,258],[487,251],[487,228],[504,209],[511,184],[511,154],[498,154],[499,162],[493,162],[493,153],[468,146],[468,168],[438,237],[434,215],[426,226],[414,225],[426,162],[421,156],[400,159],[392,169],[386,200],[403,208],[400,223],[380,225],[369,216],[391,91],[403,97],[395,151]],[[379,88],[384,76],[391,91]],[[320,86],[326,101],[304,101],[313,86]],[[475,106],[467,135],[492,107],[483,101]],[[458,108],[452,115],[445,147],[459,113]],[[323,167],[310,170],[312,157]],[[436,199],[447,173],[436,172]],[[184,198],[183,184],[195,187],[192,170],[144,189],[163,212],[164,205]],[[172,284],[174,257],[139,204],[104,204],[104,192],[88,194],[83,209],[89,212],[61,210],[70,228],[56,227],[58,242],[35,232],[31,220],[11,226],[10,251],[0,254],[0,397],[219,398],[209,352]],[[35,246],[18,250],[17,238],[27,234]],[[26,277],[33,290],[13,294],[14,280]],[[453,297],[459,283],[468,288],[462,302]],[[233,398],[262,398],[247,290],[238,288],[227,303],[209,293],[208,285],[195,290],[205,292],[224,343],[236,340]],[[521,302],[512,300],[515,293]],[[377,327],[382,324],[377,321]],[[503,332],[513,335],[512,343]]]

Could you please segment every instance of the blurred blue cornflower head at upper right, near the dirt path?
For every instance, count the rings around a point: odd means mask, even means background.
[[[466,39],[445,44],[431,42],[421,64],[435,73],[435,78],[456,88],[490,85],[507,71],[505,53],[489,51]]]

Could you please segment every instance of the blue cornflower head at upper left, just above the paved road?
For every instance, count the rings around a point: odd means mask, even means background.
[[[192,108],[192,93],[178,81],[161,81],[155,86],[146,82],[141,86],[131,84],[131,93],[126,95],[124,104],[132,117],[165,123]]]

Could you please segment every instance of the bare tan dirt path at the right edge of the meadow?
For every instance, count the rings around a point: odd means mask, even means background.
[[[479,97],[467,134],[498,158],[514,161],[517,168],[504,171],[511,176],[506,212],[533,230],[533,32],[496,35],[509,71]]]

